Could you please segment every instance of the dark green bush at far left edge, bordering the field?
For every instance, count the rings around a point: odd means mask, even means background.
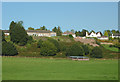
[[[16,47],[10,42],[2,42],[2,55],[3,56],[14,56],[17,55],[18,51]]]

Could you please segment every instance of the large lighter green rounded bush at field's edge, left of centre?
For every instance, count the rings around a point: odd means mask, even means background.
[[[54,56],[56,55],[57,48],[56,46],[49,42],[49,41],[44,41],[42,43],[42,47],[40,49],[40,54],[43,56]]]

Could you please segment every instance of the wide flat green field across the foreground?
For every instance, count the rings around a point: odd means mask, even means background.
[[[117,60],[3,57],[3,80],[117,80]]]

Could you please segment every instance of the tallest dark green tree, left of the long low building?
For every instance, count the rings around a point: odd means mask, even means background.
[[[22,24],[23,24],[23,22],[19,21],[19,22],[15,23],[15,25],[12,28],[10,28],[11,41],[13,43],[19,44],[21,46],[25,45],[28,41],[27,32],[25,31]]]

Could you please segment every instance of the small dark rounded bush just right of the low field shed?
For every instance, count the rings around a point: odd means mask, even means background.
[[[91,57],[93,58],[102,58],[103,55],[102,55],[102,50],[101,48],[99,47],[94,47],[91,54],[90,54]]]

